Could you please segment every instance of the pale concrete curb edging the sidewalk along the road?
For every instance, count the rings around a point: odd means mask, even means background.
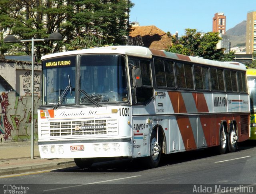
[[[74,161],[48,163],[48,164],[33,164],[31,166],[2,168],[2,169],[0,169],[0,175],[3,176],[3,175],[29,173],[29,172],[38,172],[38,171],[42,171],[42,170],[69,168],[69,167],[74,167],[74,166],[76,166]]]

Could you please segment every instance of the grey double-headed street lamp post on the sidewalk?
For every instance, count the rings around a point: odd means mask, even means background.
[[[4,38],[4,43],[18,43],[18,42],[31,42],[31,52],[32,52],[32,72],[31,72],[31,159],[34,159],[34,42],[48,41],[48,40],[63,40],[63,37],[58,32],[53,32],[50,34],[49,38],[42,39],[28,39],[28,40],[18,40],[13,35],[8,35]]]

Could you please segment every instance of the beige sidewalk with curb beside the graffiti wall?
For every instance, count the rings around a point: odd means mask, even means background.
[[[34,159],[31,159],[31,142],[0,143],[0,177],[72,166],[76,166],[72,158],[41,159],[37,141],[34,142]]]

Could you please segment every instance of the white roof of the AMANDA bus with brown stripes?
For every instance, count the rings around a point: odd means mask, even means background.
[[[137,56],[137,57],[143,57],[143,58],[152,58],[152,56],[159,56],[159,57],[165,57],[165,58],[170,58],[174,60],[181,60],[184,62],[199,63],[204,65],[230,68],[230,69],[236,69],[236,70],[244,70],[244,71],[246,70],[246,67],[244,66],[244,64],[239,62],[219,62],[219,61],[208,60],[200,57],[175,54],[175,53],[166,52],[163,50],[155,50],[155,49],[146,48],[142,46],[104,46],[99,48],[88,48],[88,49],[82,49],[82,50],[59,52],[59,53],[42,56],[41,60],[45,60],[52,57],[58,57],[58,56],[73,55],[73,54],[96,54],[96,53],[127,54],[129,56]]]

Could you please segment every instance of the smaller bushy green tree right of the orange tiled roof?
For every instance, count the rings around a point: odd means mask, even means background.
[[[201,33],[196,29],[185,29],[185,35],[180,39],[170,36],[172,46],[166,51],[189,56],[200,56],[210,60],[230,61],[234,58],[234,53],[224,54],[224,49],[217,49],[216,45],[221,40],[217,32]]]

